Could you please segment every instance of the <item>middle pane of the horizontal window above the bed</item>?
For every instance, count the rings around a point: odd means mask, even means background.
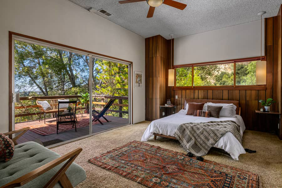
[[[194,67],[194,86],[233,86],[234,65],[219,64]]]

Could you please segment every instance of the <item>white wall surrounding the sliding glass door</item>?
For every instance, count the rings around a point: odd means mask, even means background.
[[[132,61],[145,73],[143,37],[66,0],[1,0],[0,133],[8,131],[8,31]],[[145,87],[133,88],[133,123],[145,120],[144,101]]]

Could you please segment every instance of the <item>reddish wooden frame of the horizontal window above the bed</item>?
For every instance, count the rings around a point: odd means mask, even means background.
[[[222,61],[211,61],[204,63],[192,63],[192,64],[183,64],[183,65],[174,65],[174,87],[173,90],[266,90],[266,85],[236,85],[236,63],[240,62],[248,62],[248,61],[258,61],[266,60],[266,56],[262,57],[251,57],[251,58],[241,58],[234,60],[222,60]],[[233,63],[233,77],[234,84],[230,86],[194,86],[194,67],[196,66],[205,66],[205,65],[219,65],[219,64],[232,64]],[[192,67],[192,86],[176,86],[176,69],[184,68],[184,67]]]

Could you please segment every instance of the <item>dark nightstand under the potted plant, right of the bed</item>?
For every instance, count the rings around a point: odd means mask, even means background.
[[[256,114],[258,117],[258,126],[259,130],[263,130],[264,132],[275,133],[279,136],[280,125],[280,113],[279,112],[260,112],[256,110]]]

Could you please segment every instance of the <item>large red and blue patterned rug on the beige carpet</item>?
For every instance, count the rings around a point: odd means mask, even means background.
[[[258,188],[259,175],[132,141],[89,162],[147,187]]]

